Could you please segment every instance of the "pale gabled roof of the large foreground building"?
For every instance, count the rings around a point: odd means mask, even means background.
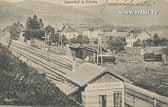
[[[129,80],[125,79],[124,77],[111,73],[108,71],[105,67],[98,66],[96,64],[91,64],[91,63],[84,63],[80,65],[76,72],[72,72],[68,75],[66,75],[66,78],[75,85],[79,87],[83,87],[89,82],[95,80],[97,77],[109,73],[117,78],[119,78],[122,81],[130,82]]]

